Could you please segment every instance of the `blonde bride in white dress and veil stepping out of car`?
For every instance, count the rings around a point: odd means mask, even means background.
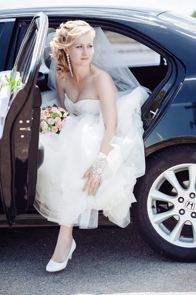
[[[149,94],[101,28],[68,21],[48,39],[52,91],[42,106],[56,103],[70,116],[59,134],[40,135],[45,157],[34,207],[60,225],[46,267],[58,271],[76,248],[73,226],[97,228],[99,210],[122,228],[130,223],[133,188],[145,172],[140,108]]]

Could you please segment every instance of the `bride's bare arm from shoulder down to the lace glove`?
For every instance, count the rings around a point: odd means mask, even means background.
[[[110,141],[116,135],[117,128],[117,110],[115,99],[115,86],[111,76],[108,73],[99,74],[96,79],[96,92],[99,95],[102,115],[105,124],[105,132],[100,152],[108,156],[112,150]]]

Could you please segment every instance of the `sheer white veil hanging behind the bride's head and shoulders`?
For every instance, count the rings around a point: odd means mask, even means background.
[[[94,30],[94,56],[92,59],[92,65],[94,64],[98,66],[99,68],[105,70],[111,75],[118,89],[118,95],[116,96],[116,98],[120,97],[121,94],[125,94],[124,91],[131,92],[137,87],[142,87],[136,79],[136,77],[129,70],[128,66],[123,65],[123,60],[120,58],[120,55],[115,51],[103,30],[100,27],[94,28]],[[43,104],[52,101],[54,98],[56,98],[59,102],[58,93],[56,89],[56,59],[53,58],[51,60],[50,56],[50,42],[55,37],[55,34],[56,32],[49,33],[46,38],[43,59],[45,64],[48,65],[48,67],[50,64],[48,87],[53,91],[46,91],[47,93],[45,95],[42,95]],[[142,88],[151,93],[149,89],[145,87]]]

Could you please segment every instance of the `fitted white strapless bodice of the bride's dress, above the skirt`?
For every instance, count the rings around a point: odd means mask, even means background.
[[[99,99],[83,99],[77,102],[72,102],[65,93],[65,108],[69,113],[80,116],[84,113],[99,115]]]

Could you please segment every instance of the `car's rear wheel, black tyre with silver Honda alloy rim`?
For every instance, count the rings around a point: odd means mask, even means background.
[[[196,147],[170,147],[146,160],[134,188],[132,217],[156,251],[178,261],[196,261]]]

